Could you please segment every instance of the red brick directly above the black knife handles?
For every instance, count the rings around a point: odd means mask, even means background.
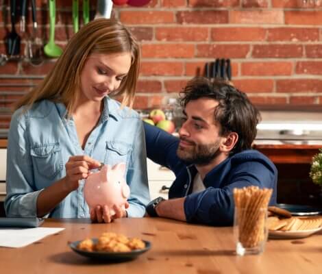
[[[246,58],[249,45],[197,45],[197,57]]]

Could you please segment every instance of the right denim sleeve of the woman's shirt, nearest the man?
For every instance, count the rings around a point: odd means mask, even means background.
[[[149,203],[149,184],[147,179],[147,151],[145,148],[145,133],[143,122],[138,119],[138,127],[134,138],[133,151],[127,175],[131,195],[128,199],[129,208],[127,216],[142,217],[145,214],[145,206]]]

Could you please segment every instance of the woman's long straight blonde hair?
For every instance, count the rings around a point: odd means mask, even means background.
[[[37,101],[49,99],[64,103],[67,113],[71,114],[80,90],[80,75],[86,58],[91,53],[124,52],[131,53],[132,64],[114,95],[123,95],[122,106],[132,108],[139,73],[140,47],[131,32],[119,21],[99,18],[79,29],[43,82],[21,98],[14,105],[14,110],[23,105],[28,109]]]

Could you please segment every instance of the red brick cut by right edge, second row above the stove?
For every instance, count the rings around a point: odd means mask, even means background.
[[[277,92],[322,92],[320,79],[277,79]]]

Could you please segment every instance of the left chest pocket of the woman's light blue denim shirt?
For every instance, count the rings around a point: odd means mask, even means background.
[[[64,168],[62,149],[59,142],[32,147],[30,154],[32,155],[37,173],[47,179],[53,179]]]

